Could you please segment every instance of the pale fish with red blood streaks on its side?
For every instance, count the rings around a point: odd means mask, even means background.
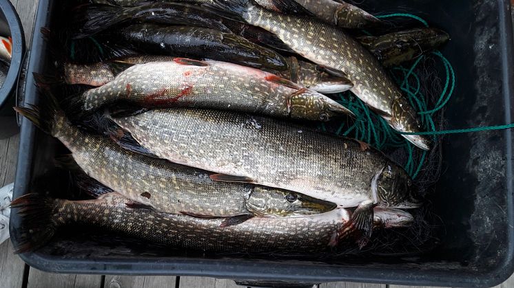
[[[68,111],[116,102],[137,107],[194,107],[328,121],[353,115],[338,102],[265,71],[214,60],[174,58],[134,65],[107,84],[68,100]]]

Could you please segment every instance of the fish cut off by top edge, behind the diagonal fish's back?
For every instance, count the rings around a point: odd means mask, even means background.
[[[348,29],[376,27],[382,21],[368,12],[346,3],[333,0],[294,0],[326,23]]]

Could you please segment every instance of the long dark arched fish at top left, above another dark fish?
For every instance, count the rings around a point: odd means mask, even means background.
[[[81,8],[76,21],[81,23],[81,28],[74,34],[74,38],[93,36],[116,25],[138,21],[205,27],[224,33],[233,33],[272,49],[293,52],[275,34],[263,28],[234,21],[216,14],[215,10],[205,6],[188,3],[143,3],[136,7],[90,5]]]

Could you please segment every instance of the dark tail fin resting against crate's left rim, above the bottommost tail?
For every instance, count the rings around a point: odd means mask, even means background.
[[[36,85],[40,88],[41,93],[46,96],[45,99],[41,100],[41,104],[39,106],[29,104],[28,107],[14,107],[14,110],[28,118],[45,133],[56,135],[59,130],[68,126],[68,120],[50,89],[46,88],[47,85],[39,82]]]

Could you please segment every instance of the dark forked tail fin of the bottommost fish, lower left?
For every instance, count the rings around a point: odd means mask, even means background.
[[[23,228],[13,238],[16,253],[25,253],[37,250],[48,243],[54,236],[56,225],[52,221],[52,214],[58,201],[45,197],[39,193],[31,193],[14,199],[11,208],[17,208],[23,219]]]

